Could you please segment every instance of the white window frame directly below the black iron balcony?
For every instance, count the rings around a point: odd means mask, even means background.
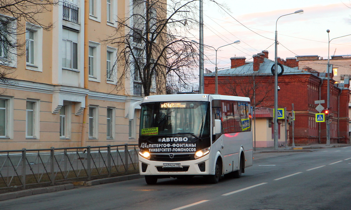
[[[66,37],[65,35],[62,35],[62,51],[61,51],[61,55],[62,55],[62,69],[67,69],[67,70],[72,70],[72,71],[79,71],[79,56],[78,56],[78,51],[79,51],[79,44],[78,44],[78,32],[73,31],[73,30],[69,30],[67,28],[63,28],[62,29],[62,34],[64,34],[64,31],[67,31],[68,33],[68,37]],[[71,55],[71,65],[67,66],[67,44],[69,44],[70,46],[70,55]],[[77,46],[77,50],[74,50],[73,46],[76,45]],[[64,56],[65,55],[65,56]],[[66,58],[64,58],[66,57]],[[77,64],[77,69],[74,68],[74,58],[76,59],[76,64]],[[64,59],[65,59],[65,64],[64,64]],[[65,66],[64,66],[65,65]]]

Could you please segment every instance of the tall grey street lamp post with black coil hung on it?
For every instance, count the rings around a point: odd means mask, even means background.
[[[291,15],[291,14],[302,14],[304,10],[300,9],[295,11],[294,13],[286,14],[286,15]],[[279,18],[286,16],[282,15]],[[274,150],[278,150],[278,56],[277,56],[277,49],[278,49],[278,41],[277,41],[277,23],[278,20],[276,21],[276,33],[275,33],[275,42],[274,42],[274,47],[275,47],[275,54],[274,54]]]

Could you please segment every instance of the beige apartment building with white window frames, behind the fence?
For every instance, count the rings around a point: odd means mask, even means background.
[[[13,84],[0,83],[0,150],[137,143],[138,118],[128,119],[128,107],[141,100],[141,83],[131,68],[116,88],[125,64],[114,65],[118,49],[102,41],[133,2],[65,0],[37,14],[52,30],[24,23],[17,38],[26,40],[26,55],[0,66],[15,70]]]

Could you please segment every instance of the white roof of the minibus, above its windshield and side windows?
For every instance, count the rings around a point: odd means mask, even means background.
[[[211,101],[211,100],[237,100],[250,102],[248,97],[240,96],[226,96],[219,94],[203,94],[203,93],[192,93],[192,94],[166,94],[166,95],[153,95],[146,96],[143,98],[142,103],[147,102],[175,102],[175,101]]]

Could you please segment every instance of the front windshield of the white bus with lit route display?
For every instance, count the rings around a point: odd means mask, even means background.
[[[191,133],[210,135],[208,102],[153,102],[141,107],[140,137]]]

